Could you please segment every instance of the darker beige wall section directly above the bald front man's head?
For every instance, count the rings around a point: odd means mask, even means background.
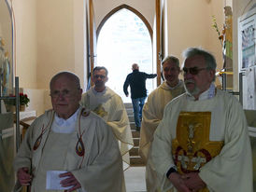
[[[53,74],[74,72],[73,1],[37,1],[36,9],[37,88],[48,89]]]

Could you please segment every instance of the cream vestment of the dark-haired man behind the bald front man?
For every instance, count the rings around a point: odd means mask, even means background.
[[[80,104],[103,117],[120,141],[123,170],[130,166],[129,150],[133,148],[133,136],[124,104],[121,97],[106,87],[97,92],[94,87],[83,93]]]

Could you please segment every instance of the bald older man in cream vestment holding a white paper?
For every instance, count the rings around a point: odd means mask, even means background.
[[[101,117],[79,105],[78,76],[61,72],[50,80],[51,110],[27,130],[14,168],[17,184],[36,192],[121,191],[121,154]]]

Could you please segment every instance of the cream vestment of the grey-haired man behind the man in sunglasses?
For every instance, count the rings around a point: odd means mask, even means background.
[[[164,82],[149,94],[147,103],[144,104],[140,130],[139,154],[147,162],[146,184],[148,192],[154,192],[157,189],[156,173],[152,163],[150,160],[148,161],[154,131],[163,118],[165,105],[184,92],[183,81],[179,81],[175,88],[170,88],[167,83]]]

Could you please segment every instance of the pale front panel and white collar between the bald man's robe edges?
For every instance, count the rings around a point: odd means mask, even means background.
[[[39,191],[46,190],[47,171],[65,171],[66,170],[66,154],[68,153],[68,145],[70,137],[75,131],[77,112],[68,119],[58,117],[55,114],[48,140],[44,146],[43,153],[38,165],[36,177],[34,177],[34,185]],[[74,147],[75,150],[75,147]],[[33,189],[33,186],[32,186]],[[32,190],[33,191],[33,190]],[[48,192],[60,192],[61,190],[47,190]],[[64,190],[63,190],[64,191]],[[84,191],[78,189],[77,191]],[[36,191],[35,191],[36,192]]]

